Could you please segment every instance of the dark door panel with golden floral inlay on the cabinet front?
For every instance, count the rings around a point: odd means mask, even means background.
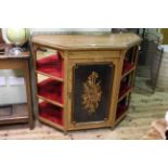
[[[114,70],[113,63],[73,67],[73,122],[107,120]]]

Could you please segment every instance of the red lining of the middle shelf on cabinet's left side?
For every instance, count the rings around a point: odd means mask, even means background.
[[[52,101],[63,103],[63,83],[51,78],[38,83],[38,94]]]

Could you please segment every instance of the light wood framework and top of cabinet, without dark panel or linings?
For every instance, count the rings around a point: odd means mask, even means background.
[[[91,42],[94,41],[93,46]],[[68,130],[80,130],[80,129],[92,129],[92,128],[113,128],[118,121],[126,115],[124,113],[116,120],[117,104],[119,99],[120,81],[124,76],[133,73],[131,83],[133,85],[134,69],[138,57],[138,50],[133,50],[134,63],[130,70],[122,75],[124,60],[126,52],[139,46],[141,39],[137,35],[108,35],[108,36],[80,36],[80,35],[39,35],[33,37],[33,53],[34,53],[34,65],[36,69],[37,64],[37,50],[39,48],[49,48],[57,51],[63,59],[63,78],[50,76],[43,74],[52,79],[63,83],[63,126],[53,124],[52,121],[41,118],[39,115],[38,119],[43,124],[50,125],[54,128],[63,131]],[[138,49],[138,48],[137,48]],[[102,65],[113,64],[115,67],[114,79],[112,85],[111,93],[111,105],[106,120],[101,121],[89,121],[89,122],[74,122],[73,120],[73,91],[74,91],[74,67],[76,65]],[[35,72],[36,79],[37,74],[41,72]],[[37,83],[37,80],[36,80]],[[130,93],[130,92],[129,92]],[[37,96],[39,99],[39,96]],[[52,102],[49,102],[52,103]],[[37,104],[38,107],[38,104]],[[79,112],[80,113],[80,112]]]

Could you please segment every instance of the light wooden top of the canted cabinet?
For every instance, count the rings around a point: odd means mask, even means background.
[[[127,49],[140,43],[135,34],[111,35],[37,35],[33,42],[60,50]]]

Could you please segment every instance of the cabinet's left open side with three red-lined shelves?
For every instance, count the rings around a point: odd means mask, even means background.
[[[64,68],[57,51],[36,62],[39,120],[64,130]]]

